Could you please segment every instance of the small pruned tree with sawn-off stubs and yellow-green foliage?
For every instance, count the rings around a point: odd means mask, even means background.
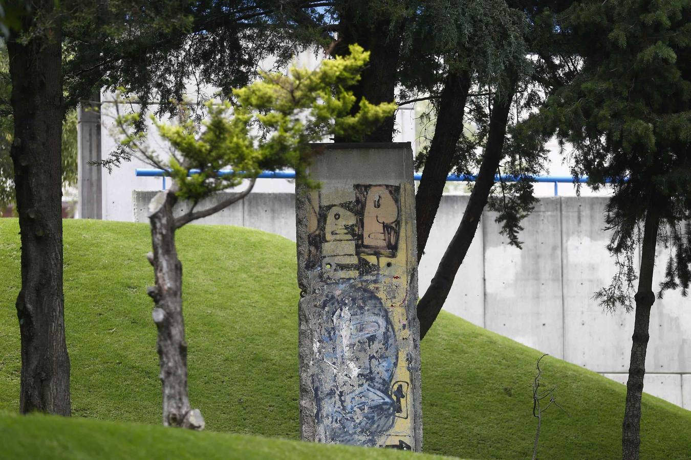
[[[328,134],[366,132],[392,114],[394,103],[373,105],[360,99],[356,104],[356,97],[345,90],[357,83],[369,58],[359,46],[351,46],[350,52],[324,61],[317,70],[291,68],[287,76],[263,73],[260,81],[233,91],[233,104],[207,103],[209,116],[202,126],[193,119],[172,126],[153,117],[173,149],[169,159],[148,148],[142,132],[132,130],[138,112],[117,118],[120,129],[128,133],[122,138],[124,146],[149,165],[169,171],[173,179],[173,186],[159,192],[149,205],[153,252],[147,255],[155,274],[155,286],[147,293],[155,303],[152,316],[158,329],[165,426],[204,427],[202,414],[191,409],[187,392],[182,263],[176,230],[243,199],[262,170],[290,167],[309,181],[305,168],[313,154],[310,143]],[[243,192],[205,207],[203,200],[247,179]],[[180,200],[189,202],[189,210],[176,214],[174,206]]]

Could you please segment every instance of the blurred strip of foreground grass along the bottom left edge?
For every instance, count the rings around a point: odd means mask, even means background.
[[[339,459],[432,460],[392,449],[327,446],[246,434],[169,430],[158,425],[21,417],[0,412],[3,459]]]

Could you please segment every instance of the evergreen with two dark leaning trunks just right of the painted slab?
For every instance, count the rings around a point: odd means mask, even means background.
[[[536,54],[534,50],[539,48],[554,51],[553,42],[547,39],[553,34],[553,12],[548,6],[554,2],[510,3],[430,0],[428,5],[433,8],[426,21],[421,21],[427,23],[427,34],[451,39],[439,40],[436,46],[441,48],[428,53],[430,62],[437,56],[442,64],[439,74],[446,77],[443,86],[430,88],[437,102],[437,121],[429,148],[418,159],[418,166],[424,167],[416,202],[419,258],[447,174],[477,174],[459,226],[418,303],[421,337],[444,306],[486,206],[498,211],[502,234],[520,248],[520,222],[536,201],[531,178],[545,168],[548,137],[524,126],[522,119],[545,100],[545,59],[530,59],[529,54]],[[435,54],[439,51],[443,59]],[[470,88],[477,94],[470,94]],[[472,135],[462,133],[466,120],[477,126]],[[495,185],[496,174],[509,174],[517,180]]]

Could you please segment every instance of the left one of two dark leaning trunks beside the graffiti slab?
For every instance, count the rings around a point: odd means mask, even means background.
[[[427,239],[439,209],[439,201],[442,200],[446,176],[451,170],[456,144],[463,134],[463,114],[470,87],[471,78],[465,72],[462,74],[450,72],[446,76],[434,137],[415,196],[418,262],[424,254]]]

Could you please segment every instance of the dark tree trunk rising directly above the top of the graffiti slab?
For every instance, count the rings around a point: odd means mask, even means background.
[[[349,88],[356,97],[354,112],[357,112],[362,98],[373,104],[394,100],[402,40],[402,25],[395,25],[395,30],[392,31],[391,19],[381,18],[370,23],[361,17],[366,12],[358,12],[356,11],[357,8],[357,6],[345,6],[339,29],[339,40],[334,50],[335,54],[346,55],[350,53],[348,46],[357,43],[370,52],[370,61],[362,71],[360,81],[354,87]],[[361,141],[391,142],[394,121],[395,115],[384,119]],[[349,142],[358,139],[352,139],[346,134],[342,137],[336,136],[334,140],[336,142]]]

